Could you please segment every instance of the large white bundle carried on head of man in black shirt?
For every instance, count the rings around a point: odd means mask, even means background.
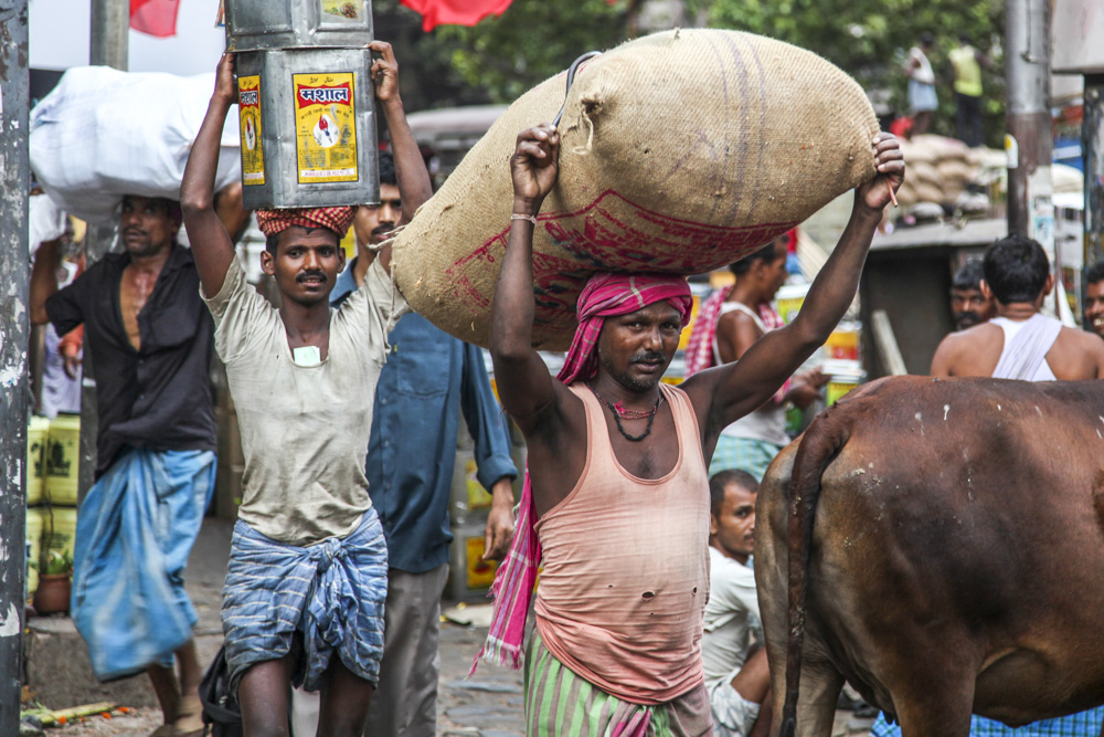
[[[180,199],[214,73],[181,77],[107,66],[71,69],[31,110],[31,169],[57,204],[89,221],[124,194]],[[227,116],[215,189],[241,178],[237,115]]]

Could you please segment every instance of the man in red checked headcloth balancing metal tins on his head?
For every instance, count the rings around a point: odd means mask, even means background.
[[[429,177],[399,96],[391,45],[371,77],[391,130],[407,215]],[[215,347],[237,408],[245,454],[243,502],[223,589],[231,691],[246,734],[288,733],[288,684],[319,691],[319,734],[360,735],[379,678],[388,551],[364,476],[375,385],[388,333],[408,310],[381,249],[340,309],[329,295],[344,265],[338,245],[353,208],[258,211],[261,265],[276,309],[250,286],[214,215],[219,138],[235,102],[233,55],[215,91],[181,187]]]

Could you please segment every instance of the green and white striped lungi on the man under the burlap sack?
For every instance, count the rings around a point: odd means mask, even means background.
[[[526,653],[526,737],[702,737],[713,734],[704,684],[645,706],[611,696],[558,661],[533,632]]]

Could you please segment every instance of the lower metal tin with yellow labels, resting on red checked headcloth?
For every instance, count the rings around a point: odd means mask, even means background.
[[[246,209],[380,201],[367,49],[237,56]]]

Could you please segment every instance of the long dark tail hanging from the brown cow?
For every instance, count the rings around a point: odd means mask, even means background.
[[[789,635],[786,652],[786,702],[781,737],[797,731],[797,695],[805,644],[805,601],[808,586],[813,524],[820,498],[820,475],[850,436],[850,425],[839,408],[818,417],[802,439],[789,482]]]

